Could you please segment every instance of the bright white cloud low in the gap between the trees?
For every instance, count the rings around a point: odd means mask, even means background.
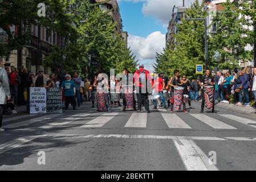
[[[132,53],[136,59],[145,65],[145,68],[152,70],[152,64],[155,63],[156,52],[162,52],[165,47],[165,34],[160,31],[152,32],[147,38],[129,35],[128,47],[131,47]]]

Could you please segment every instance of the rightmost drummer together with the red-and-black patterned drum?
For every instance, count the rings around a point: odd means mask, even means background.
[[[210,70],[206,70],[206,75],[201,77],[200,79],[200,86],[202,86],[202,105],[200,113],[204,113],[204,107],[206,109],[212,110],[214,113],[214,78],[210,76]]]

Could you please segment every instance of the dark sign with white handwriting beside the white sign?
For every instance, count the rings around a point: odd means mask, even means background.
[[[50,88],[46,92],[47,113],[62,113],[62,88]]]

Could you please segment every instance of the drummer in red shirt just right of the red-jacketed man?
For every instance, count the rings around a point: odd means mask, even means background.
[[[161,72],[162,73],[162,72]],[[161,74],[160,73],[160,74]],[[164,83],[164,79],[159,76],[158,74],[155,75],[155,79],[153,81],[153,89],[155,90],[155,94],[159,94],[160,99],[162,101],[162,104],[164,105],[164,108],[166,109],[166,103],[165,103],[165,99],[164,99],[164,88],[165,88],[165,83]],[[153,100],[153,104],[154,104],[154,109],[157,109],[157,103],[156,100]]]

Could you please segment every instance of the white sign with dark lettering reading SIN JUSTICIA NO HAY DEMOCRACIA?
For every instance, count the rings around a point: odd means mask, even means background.
[[[30,88],[30,114],[46,113],[46,88]]]

